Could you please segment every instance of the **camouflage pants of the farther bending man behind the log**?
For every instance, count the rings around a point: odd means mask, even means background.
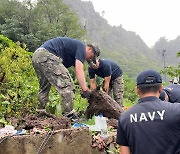
[[[116,78],[115,80],[111,81],[109,84],[109,93],[108,93],[114,100],[119,103],[121,107],[123,105],[123,94],[124,94],[124,81],[123,76]]]

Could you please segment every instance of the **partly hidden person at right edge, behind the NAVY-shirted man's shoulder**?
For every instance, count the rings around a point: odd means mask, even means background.
[[[159,98],[170,103],[180,103],[180,85],[172,84],[164,87]]]

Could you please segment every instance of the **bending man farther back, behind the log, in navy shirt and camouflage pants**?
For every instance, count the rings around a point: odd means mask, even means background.
[[[111,97],[113,94],[114,100],[123,107],[124,84],[121,68],[113,61],[99,59],[97,60],[96,65],[91,65],[90,63],[88,72],[91,90],[95,90],[97,88],[95,75],[103,78],[104,91]]]

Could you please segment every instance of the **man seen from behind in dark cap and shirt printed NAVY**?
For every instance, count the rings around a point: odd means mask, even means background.
[[[159,99],[162,79],[146,70],[137,77],[136,105],[121,114],[117,144],[121,154],[180,154],[180,104]]]

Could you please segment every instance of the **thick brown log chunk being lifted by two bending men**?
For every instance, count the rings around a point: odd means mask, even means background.
[[[121,106],[103,91],[93,91],[88,103],[89,106],[85,112],[87,118],[102,113],[105,117],[119,119],[121,113],[124,112]]]

